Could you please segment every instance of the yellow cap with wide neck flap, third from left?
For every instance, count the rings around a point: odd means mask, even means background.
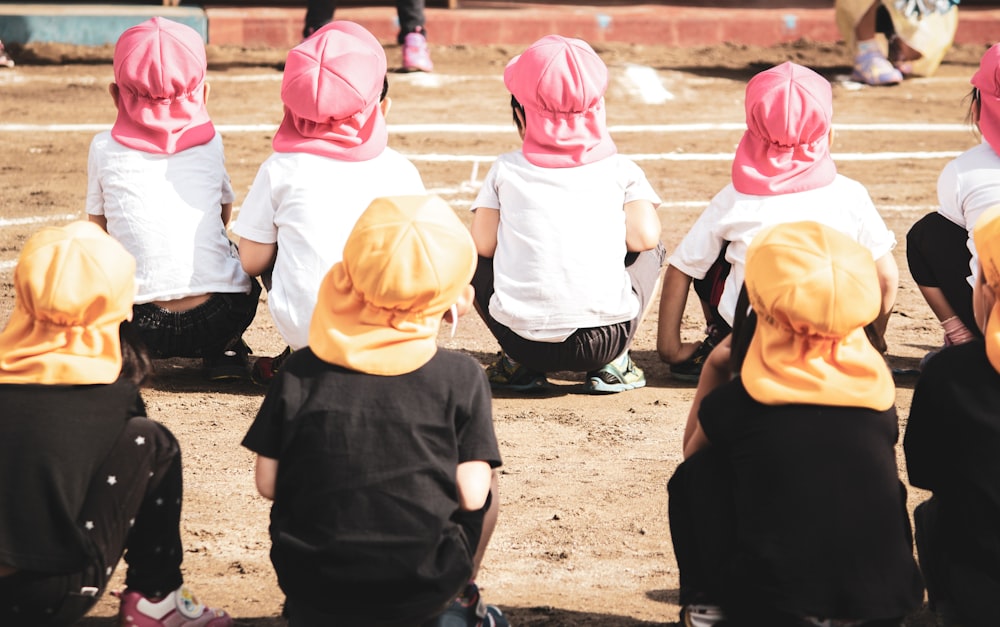
[[[751,242],[745,280],[757,313],[741,371],[752,398],[892,406],[892,373],[864,332],[882,298],[870,251],[817,222],[779,224]]]

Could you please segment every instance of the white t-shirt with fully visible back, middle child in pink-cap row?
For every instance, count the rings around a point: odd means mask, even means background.
[[[500,155],[472,204],[500,211],[493,318],[550,342],[634,318],[623,209],[633,200],[660,204],[639,166],[620,155],[573,168],[542,168],[521,151]]]

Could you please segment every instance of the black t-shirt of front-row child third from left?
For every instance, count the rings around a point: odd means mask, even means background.
[[[737,606],[870,620],[920,605],[895,408],[768,406],[736,379],[699,420],[732,464]]]

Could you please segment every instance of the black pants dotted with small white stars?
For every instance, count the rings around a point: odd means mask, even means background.
[[[54,627],[83,617],[105,591],[122,553],[125,585],[164,596],[182,583],[180,448],[148,418],[132,418],[91,480],[78,519],[91,547],[72,573],[0,577],[0,625]]]

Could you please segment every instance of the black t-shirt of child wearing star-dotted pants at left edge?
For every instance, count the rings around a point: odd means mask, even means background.
[[[0,407],[0,564],[75,572],[93,553],[77,516],[125,422],[146,415],[139,390],[5,384]]]

